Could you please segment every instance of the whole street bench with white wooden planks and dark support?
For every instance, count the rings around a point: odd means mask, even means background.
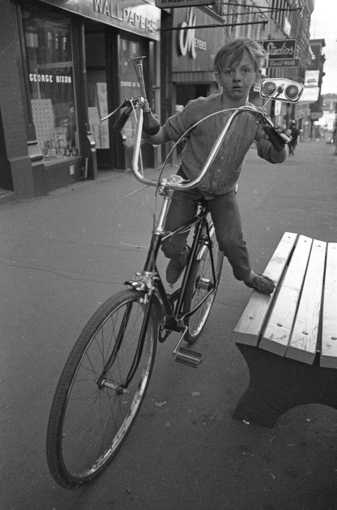
[[[337,409],[337,243],[286,232],[264,274],[277,289],[253,291],[232,333],[250,376],[234,417],[273,427],[297,405]]]

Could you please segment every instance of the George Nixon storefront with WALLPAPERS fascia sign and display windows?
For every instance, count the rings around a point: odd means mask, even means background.
[[[144,60],[150,90],[159,59],[160,16],[154,0],[127,5],[123,0],[1,3],[0,44],[5,48],[6,37],[7,47],[12,41],[8,47],[12,75],[0,85],[0,138],[4,139],[0,188],[12,188],[18,197],[39,196],[82,178],[94,179],[99,170],[130,167],[134,119],[121,133],[112,129],[111,121],[100,119],[124,98],[140,93],[129,59],[151,57]],[[10,65],[3,60],[2,75]],[[16,91],[12,105],[6,102],[11,90]],[[20,121],[16,154],[13,138]],[[146,144],[145,165],[151,165],[152,153]]]

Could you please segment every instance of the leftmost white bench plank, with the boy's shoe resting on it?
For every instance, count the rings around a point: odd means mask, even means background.
[[[284,268],[291,256],[297,234],[285,232],[263,274],[279,284]],[[258,337],[275,292],[271,296],[253,291],[233,333],[235,342],[257,345]]]

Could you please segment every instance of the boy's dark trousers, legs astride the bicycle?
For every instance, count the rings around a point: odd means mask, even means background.
[[[181,174],[181,172],[178,172]],[[167,213],[165,230],[172,232],[176,228],[191,221],[198,209],[198,201],[204,199],[197,190],[181,192],[175,191]],[[241,218],[235,191],[225,195],[214,196],[206,200],[210,208],[215,227],[215,235],[219,248],[227,257],[237,280],[246,279],[251,271],[249,254],[243,240]],[[163,242],[162,250],[165,257],[173,259],[177,267],[186,263],[186,242],[188,232],[177,234]]]

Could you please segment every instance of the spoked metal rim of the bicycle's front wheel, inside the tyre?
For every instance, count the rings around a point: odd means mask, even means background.
[[[96,329],[72,378],[60,441],[61,462],[75,480],[91,476],[111,460],[132,426],[146,391],[154,351],[152,317],[138,368],[127,393],[121,391],[143,322],[144,307],[136,300],[132,303],[123,341],[105,376],[106,382],[98,384],[116,346],[126,304],[122,303]]]

